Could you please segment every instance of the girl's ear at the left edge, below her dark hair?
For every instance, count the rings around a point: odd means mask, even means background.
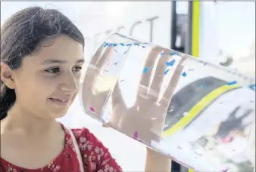
[[[6,63],[1,63],[1,73],[0,73],[1,80],[10,89],[15,88],[13,74],[14,74],[13,70],[11,70]]]

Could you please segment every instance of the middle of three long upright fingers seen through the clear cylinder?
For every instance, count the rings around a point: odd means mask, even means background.
[[[169,52],[169,50],[165,50],[164,54],[169,54]],[[161,91],[161,85],[163,84],[164,81],[164,71],[166,70],[164,67],[166,61],[167,58],[161,57],[160,60],[158,61],[157,69],[155,70],[155,76],[150,87],[151,95],[149,95],[150,99],[153,101],[158,100],[158,96]]]

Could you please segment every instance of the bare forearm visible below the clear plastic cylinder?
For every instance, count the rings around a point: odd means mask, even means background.
[[[170,172],[171,159],[147,148],[145,171]]]

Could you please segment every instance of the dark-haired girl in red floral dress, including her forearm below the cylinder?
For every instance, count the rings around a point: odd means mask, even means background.
[[[55,121],[78,92],[83,50],[80,30],[56,10],[27,8],[2,26],[0,171],[121,171],[86,128]],[[148,149],[146,159],[146,171],[170,171],[169,158]]]

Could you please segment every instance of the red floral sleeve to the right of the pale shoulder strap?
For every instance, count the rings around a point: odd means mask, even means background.
[[[73,129],[86,171],[120,172],[121,167],[108,149],[88,129]]]

